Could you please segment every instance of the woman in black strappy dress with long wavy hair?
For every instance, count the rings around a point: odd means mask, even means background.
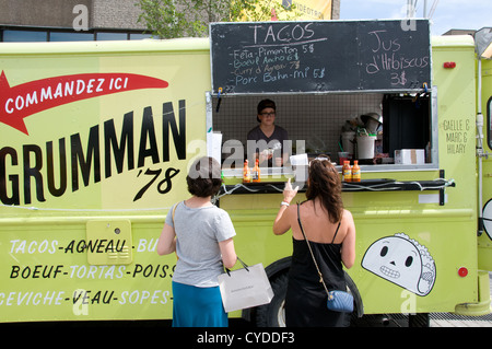
[[[290,181],[277,214],[273,233],[292,230],[293,254],[285,296],[286,326],[347,326],[350,314],[327,309],[327,294],[319,282],[306,241],[297,222],[297,207],[290,202],[297,194]],[[301,222],[329,290],[345,291],[343,266],[355,259],[355,224],[343,209],[340,174],[327,159],[309,164],[307,200],[300,207]]]

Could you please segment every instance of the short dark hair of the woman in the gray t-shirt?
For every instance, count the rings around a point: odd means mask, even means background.
[[[189,167],[186,183],[191,195],[201,198],[215,195],[222,185],[221,164],[210,156],[196,160]]]

